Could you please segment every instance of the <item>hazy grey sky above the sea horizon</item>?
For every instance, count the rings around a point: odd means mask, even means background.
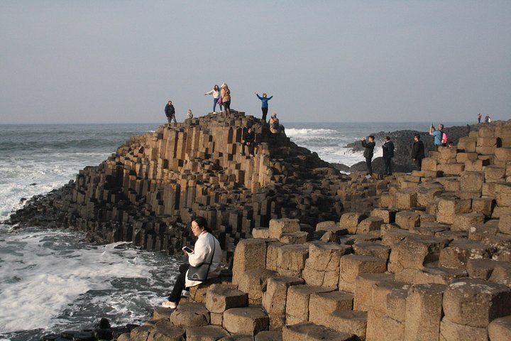
[[[511,1],[0,0],[0,124],[511,117]]]

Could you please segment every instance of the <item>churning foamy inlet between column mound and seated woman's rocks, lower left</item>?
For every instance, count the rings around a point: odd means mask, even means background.
[[[38,229],[0,234],[0,336],[85,328],[97,316],[117,325],[144,320],[168,295],[182,260],[123,243],[92,246],[82,237]]]

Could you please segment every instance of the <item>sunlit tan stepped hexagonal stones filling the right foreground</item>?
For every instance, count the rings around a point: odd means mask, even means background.
[[[320,222],[309,242],[298,220],[253,229],[231,281],[157,308],[147,340],[163,326],[186,340],[511,340],[511,122],[352,186],[380,192],[378,207]]]

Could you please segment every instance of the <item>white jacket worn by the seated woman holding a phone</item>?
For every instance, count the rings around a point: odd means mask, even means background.
[[[188,262],[191,266],[199,266],[203,263],[209,263],[211,253],[214,249],[213,261],[209,266],[208,278],[215,278],[220,275],[220,262],[222,260],[222,251],[219,241],[209,232],[202,232],[195,242],[194,253],[188,254]],[[185,277],[185,286],[198,286],[201,281],[190,281],[188,271]]]

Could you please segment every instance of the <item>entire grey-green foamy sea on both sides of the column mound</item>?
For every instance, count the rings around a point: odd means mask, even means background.
[[[427,131],[429,123],[285,123],[297,145],[351,166],[346,144],[379,131]],[[446,122],[446,125],[466,122]],[[97,166],[130,136],[159,124],[0,124],[0,341],[40,340],[62,330],[143,323],[170,293],[185,259],[114,243],[93,245],[68,229],[4,224],[23,199],[48,193]],[[375,150],[378,155],[378,147]]]

